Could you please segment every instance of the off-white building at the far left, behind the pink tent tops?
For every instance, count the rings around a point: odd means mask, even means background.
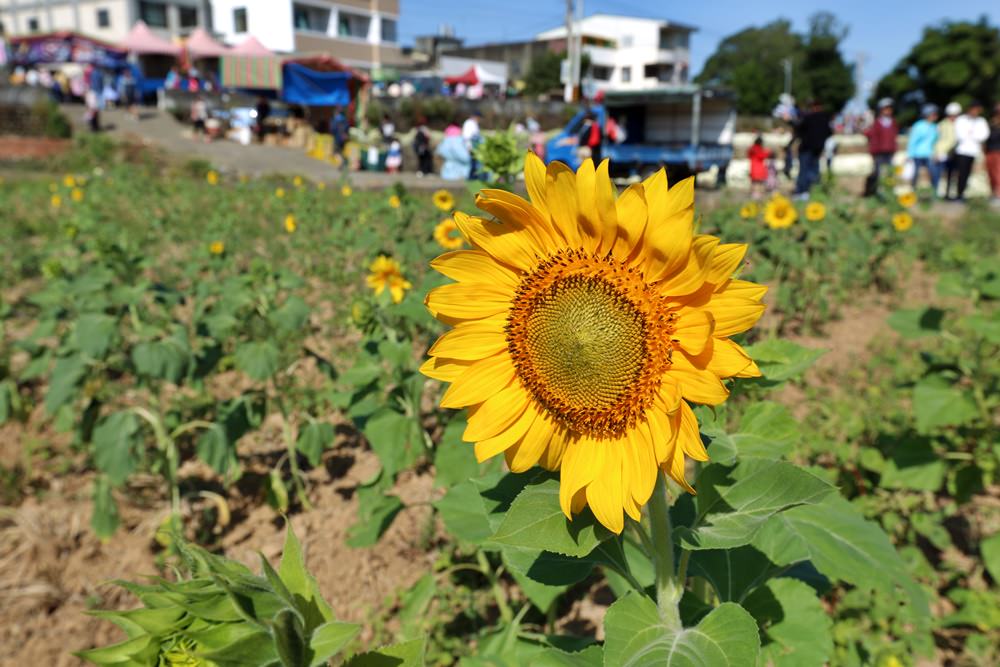
[[[72,30],[117,43],[141,19],[162,37],[182,37],[211,25],[208,4],[208,0],[0,0],[0,33]]]

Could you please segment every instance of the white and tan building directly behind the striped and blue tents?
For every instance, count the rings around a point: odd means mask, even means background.
[[[230,44],[252,34],[272,51],[328,53],[365,69],[403,60],[399,0],[212,0],[212,17]]]

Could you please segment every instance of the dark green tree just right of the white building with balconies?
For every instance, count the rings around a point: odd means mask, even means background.
[[[786,19],[746,28],[722,40],[695,81],[731,88],[740,113],[764,115],[784,91],[787,59],[792,95],[801,102],[815,97],[836,111],[854,94],[851,67],[840,53],[846,36],[847,28],[829,12],[813,15],[804,35]]]

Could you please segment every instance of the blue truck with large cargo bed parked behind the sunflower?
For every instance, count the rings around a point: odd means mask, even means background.
[[[547,162],[576,169],[582,162],[579,134],[587,112],[602,128],[611,116],[624,128],[620,143],[607,137],[601,157],[613,176],[646,176],[666,167],[672,179],[723,168],[733,158],[736,107],[731,93],[695,85],[609,91],[600,104],[581,108],[546,144]]]

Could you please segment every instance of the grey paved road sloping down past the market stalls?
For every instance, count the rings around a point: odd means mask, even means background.
[[[63,111],[73,122],[77,132],[89,131],[83,121],[82,107],[65,106]],[[299,174],[315,181],[337,181],[342,178],[340,169],[307,156],[301,149],[261,144],[242,146],[225,140],[206,144],[195,140],[190,127],[178,123],[170,114],[155,109],[143,109],[140,120],[134,119],[125,111],[111,109],[101,113],[101,122],[105,131],[114,137],[154,145],[182,158],[201,158],[223,172],[250,176]],[[413,172],[351,172],[348,178],[352,186],[360,189],[382,189],[395,183],[402,183],[411,189],[428,190],[465,187],[464,183],[445,181],[437,176],[418,178]]]

